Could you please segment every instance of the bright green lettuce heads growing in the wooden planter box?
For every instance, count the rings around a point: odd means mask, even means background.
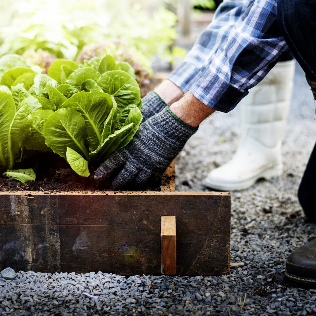
[[[89,164],[129,143],[142,120],[133,68],[110,55],[80,66],[55,60],[47,75],[6,55],[0,73],[0,167],[20,181],[34,176],[13,169],[23,147],[53,151],[87,177]]]

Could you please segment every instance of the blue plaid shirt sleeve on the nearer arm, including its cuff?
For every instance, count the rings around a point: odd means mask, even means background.
[[[190,91],[207,106],[229,112],[288,50],[276,18],[276,1],[254,0]]]

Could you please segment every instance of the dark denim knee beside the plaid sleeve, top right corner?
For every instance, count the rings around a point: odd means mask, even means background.
[[[294,57],[316,81],[316,0],[277,0],[277,16]]]

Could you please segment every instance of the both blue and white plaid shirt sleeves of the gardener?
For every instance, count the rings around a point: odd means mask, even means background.
[[[211,108],[229,112],[288,50],[275,0],[224,0],[168,79]]]

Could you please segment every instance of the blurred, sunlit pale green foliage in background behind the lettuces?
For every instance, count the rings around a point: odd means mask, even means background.
[[[170,50],[177,17],[162,2],[157,8],[136,0],[14,0],[1,1],[0,9],[0,56],[41,49],[76,60],[87,44],[118,41],[147,70],[152,56],[179,56]]]

